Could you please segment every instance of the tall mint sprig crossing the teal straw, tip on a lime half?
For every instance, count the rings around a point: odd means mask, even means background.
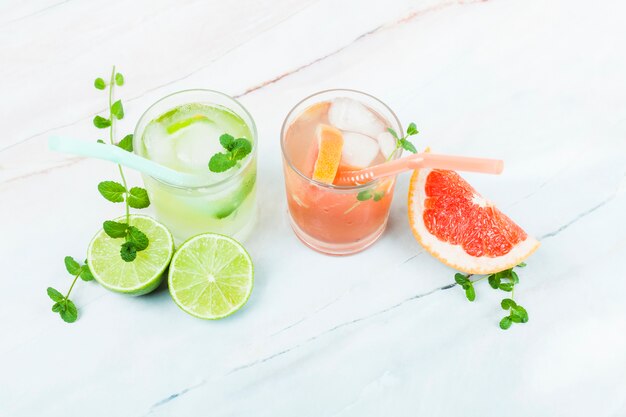
[[[115,121],[122,120],[124,118],[124,106],[121,100],[113,101],[113,90],[115,86],[121,87],[124,85],[124,76],[115,71],[115,66],[111,72],[111,78],[106,83],[102,78],[96,78],[94,86],[98,90],[109,89],[109,118],[102,116],[95,116],[93,124],[99,129],[109,129],[109,142],[113,145],[114,141],[114,129]],[[125,151],[133,151],[133,135],[129,134],[117,144]],[[128,188],[126,183],[126,177],[124,176],[124,170],[122,166],[118,164],[118,171],[122,182],[116,181],[102,181],[98,184],[98,191],[108,201],[112,203],[125,203],[126,206],[126,221],[115,222],[113,220],[107,220],[102,224],[104,232],[114,238],[124,238],[124,243],[120,246],[120,257],[126,262],[132,262],[137,258],[137,252],[145,250],[149,245],[148,237],[137,227],[130,225],[130,207],[135,209],[146,208],[150,205],[150,199],[148,192],[141,187]]]

